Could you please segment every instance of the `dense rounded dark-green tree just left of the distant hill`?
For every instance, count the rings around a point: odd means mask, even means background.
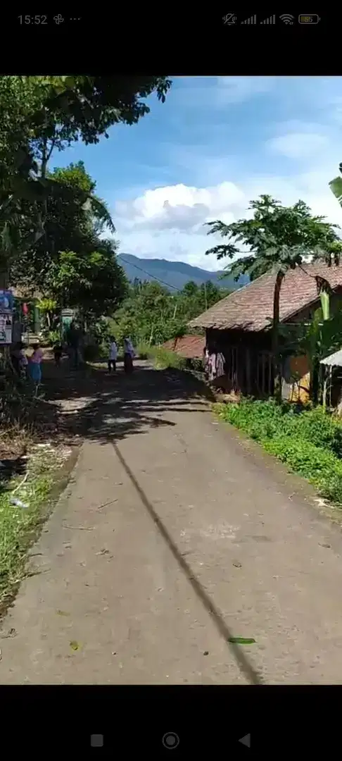
[[[14,260],[12,282],[38,289],[57,311],[78,307],[94,320],[119,307],[126,292],[116,244],[103,238],[106,228],[114,230],[112,220],[82,161],[52,177],[60,190],[47,199],[45,235],[28,256]]]

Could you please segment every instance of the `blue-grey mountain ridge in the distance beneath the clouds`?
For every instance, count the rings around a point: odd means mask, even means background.
[[[246,275],[242,275],[239,283],[234,282],[232,278],[226,277],[220,279],[222,272],[210,272],[201,267],[192,267],[185,262],[169,262],[166,259],[140,259],[131,253],[119,254],[118,262],[125,270],[128,280],[159,280],[163,281],[171,290],[173,288],[184,288],[185,283],[189,280],[201,285],[201,283],[211,280],[219,288],[239,288],[241,285],[249,282]]]

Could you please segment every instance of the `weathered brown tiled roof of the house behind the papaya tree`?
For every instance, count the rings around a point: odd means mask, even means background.
[[[305,271],[304,271],[305,270]],[[306,274],[307,273],[307,274]],[[305,264],[290,269],[280,289],[280,321],[288,320],[318,299],[315,275],[325,278],[331,288],[342,286],[342,265]],[[214,307],[195,317],[189,327],[221,330],[265,330],[273,317],[275,275],[261,275],[243,288],[233,291]]]

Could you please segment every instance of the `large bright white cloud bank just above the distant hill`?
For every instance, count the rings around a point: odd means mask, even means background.
[[[249,201],[270,193],[283,204],[306,201],[312,212],[342,224],[342,212],[328,187],[332,167],[296,177],[251,177],[240,183],[188,187],[182,184],[147,190],[130,202],[116,205],[116,228],[121,250],[143,258],[185,261],[204,269],[220,269],[224,262],[205,251],[219,243],[207,237],[204,223],[220,218],[227,224],[245,216]]]

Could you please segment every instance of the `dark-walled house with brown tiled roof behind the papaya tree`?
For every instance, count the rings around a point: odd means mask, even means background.
[[[290,269],[280,290],[280,323],[310,320],[320,306],[316,277],[331,285],[331,308],[342,298],[342,266],[306,264]],[[206,331],[207,346],[222,352],[226,364],[222,386],[254,396],[274,391],[271,354],[275,275],[261,275],[218,301],[189,323]],[[289,358],[283,367],[283,398],[306,401],[309,392],[309,359]]]

